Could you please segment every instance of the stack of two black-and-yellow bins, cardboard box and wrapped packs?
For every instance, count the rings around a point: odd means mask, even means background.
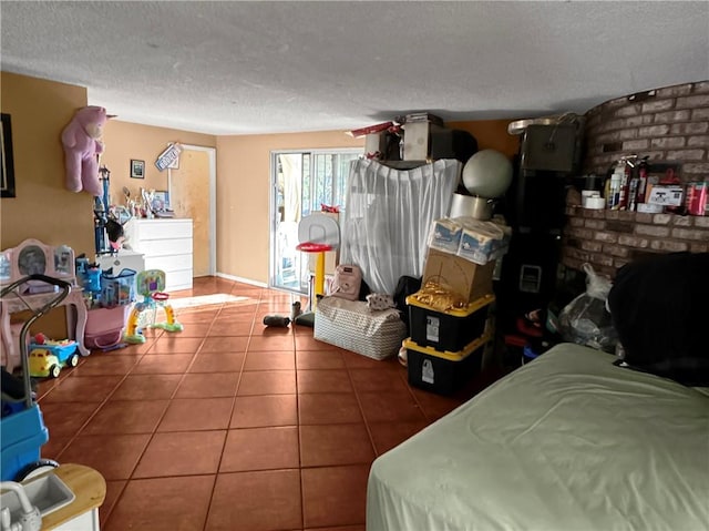
[[[510,236],[507,227],[494,222],[433,222],[422,289],[407,298],[411,385],[452,394],[479,370],[492,335],[495,262],[506,252]]]

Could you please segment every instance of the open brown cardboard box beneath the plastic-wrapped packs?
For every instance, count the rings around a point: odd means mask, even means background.
[[[423,284],[433,280],[472,302],[493,293],[495,261],[477,265],[456,255],[429,248],[423,266]]]

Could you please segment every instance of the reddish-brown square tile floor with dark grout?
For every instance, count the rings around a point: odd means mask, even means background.
[[[196,279],[171,297],[184,331],[150,330],[40,384],[42,457],[103,474],[102,529],[364,529],[371,462],[470,394],[411,388],[395,359],[311,328],[263,326],[292,300]]]

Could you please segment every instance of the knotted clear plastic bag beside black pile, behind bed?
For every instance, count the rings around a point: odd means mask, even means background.
[[[568,303],[559,315],[559,331],[565,341],[615,351],[618,335],[606,307],[613,283],[584,264],[586,292]]]

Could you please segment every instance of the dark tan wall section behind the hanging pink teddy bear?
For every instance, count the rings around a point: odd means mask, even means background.
[[[2,112],[12,120],[17,190],[17,197],[0,201],[2,248],[37,238],[93,253],[93,198],[64,188],[61,143],[64,126],[86,105],[86,89],[8,72],[0,80]]]

